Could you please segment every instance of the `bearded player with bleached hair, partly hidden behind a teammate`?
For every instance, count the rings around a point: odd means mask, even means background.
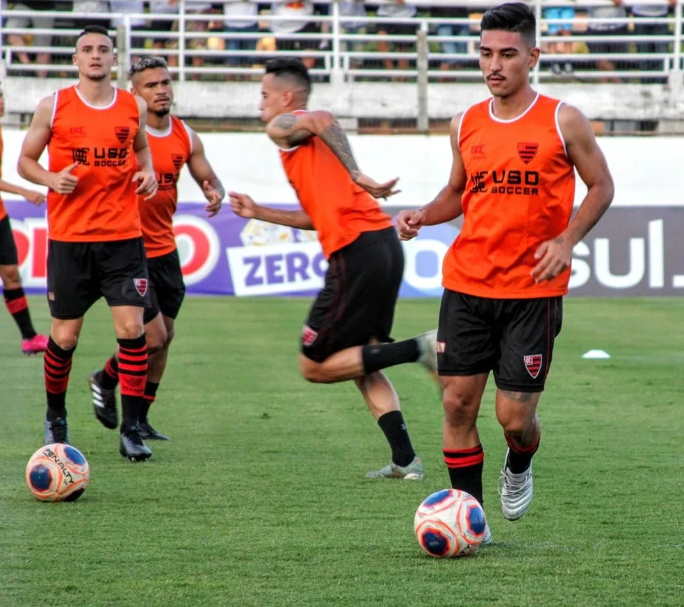
[[[219,212],[225,192],[204,155],[204,146],[197,133],[170,115],[173,88],[165,60],[161,57],[138,59],[131,65],[131,79],[131,92],[142,97],[147,106],[145,129],[158,183],[154,198],[146,200],[142,195],[138,198],[151,301],[143,316],[149,363],[143,394],[145,402],[140,408],[138,422],[143,439],[169,440],[149,424],[147,413],[164,374],[174,322],[185,296],[172,224],[178,204],[177,183],[181,169],[187,163],[190,175],[202,188],[209,201],[205,208],[209,217]],[[115,388],[118,381],[117,354],[89,380],[95,415],[101,424],[111,429],[117,426]]]

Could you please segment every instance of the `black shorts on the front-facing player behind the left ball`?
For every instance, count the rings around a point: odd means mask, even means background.
[[[108,242],[50,240],[47,303],[53,318],[81,318],[104,296],[107,305],[149,305],[142,237]]]

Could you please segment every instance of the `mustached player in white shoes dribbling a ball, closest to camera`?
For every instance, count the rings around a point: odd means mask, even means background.
[[[402,211],[400,238],[463,215],[443,262],[437,358],[443,452],[454,488],[482,503],[478,411],[489,372],[508,450],[501,508],[519,519],[532,501],[537,404],[560,332],[573,247],[610,206],[613,183],[579,110],[538,94],[535,15],[523,3],[490,8],[480,24],[480,67],[492,94],[451,122],[447,185]],[[571,219],[575,169],[588,188]],[[487,527],[487,541],[491,541]]]

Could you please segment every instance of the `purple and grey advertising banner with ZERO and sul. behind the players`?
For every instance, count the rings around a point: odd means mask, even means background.
[[[327,262],[316,234],[241,219],[225,206],[206,218],[204,202],[181,203],[174,231],[188,294],[311,295],[323,286]],[[47,286],[45,208],[6,201],[27,292]],[[391,208],[393,215],[400,208]],[[613,207],[573,251],[570,294],[684,294],[684,210]],[[401,297],[439,297],[441,261],[458,222],[430,226],[404,243]]]

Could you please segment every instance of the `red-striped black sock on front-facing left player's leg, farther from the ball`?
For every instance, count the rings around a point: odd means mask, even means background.
[[[145,334],[119,343],[119,391],[121,394],[121,431],[138,425],[142,394],[147,379],[147,344]]]

